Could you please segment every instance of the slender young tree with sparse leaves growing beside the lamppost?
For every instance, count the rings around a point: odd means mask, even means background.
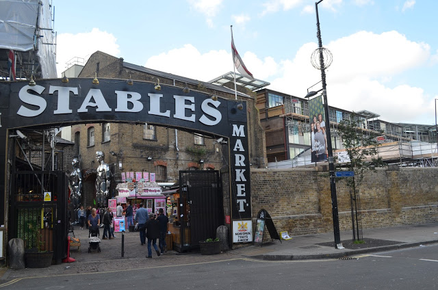
[[[342,144],[346,150],[344,161],[338,162],[338,167],[347,168],[349,171],[355,172],[355,176],[346,178],[346,184],[352,189],[350,190],[351,212],[352,212],[352,230],[353,239],[356,241],[355,235],[355,215],[353,214],[353,202],[356,212],[356,228],[357,239],[359,239],[359,222],[357,218],[357,207],[359,194],[356,192],[356,186],[363,180],[363,174],[367,170],[373,170],[376,167],[381,167],[383,161],[381,157],[377,157],[376,136],[367,133],[359,127],[359,118],[355,114],[350,119],[345,119],[339,122],[337,127],[339,135],[342,137]]]

